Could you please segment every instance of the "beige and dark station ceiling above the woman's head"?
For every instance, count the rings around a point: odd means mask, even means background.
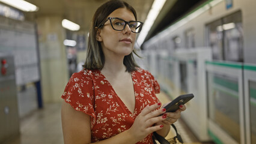
[[[91,19],[96,9],[108,0],[26,0],[40,9],[32,14],[33,17],[61,16],[81,26],[80,31],[88,32]],[[131,4],[137,14],[138,20],[144,22],[154,0],[124,0]],[[155,20],[145,40],[167,28],[171,23],[192,11],[198,5],[208,0],[166,0],[165,5]]]

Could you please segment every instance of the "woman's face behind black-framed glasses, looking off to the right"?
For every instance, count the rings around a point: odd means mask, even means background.
[[[118,8],[109,14],[108,17],[118,17],[126,20],[126,22],[135,20],[132,11],[126,8]],[[123,31],[116,31],[112,28],[109,20],[102,29],[99,29],[97,34],[97,41],[101,42],[105,58],[129,55],[133,50],[135,38],[136,34],[130,30],[128,25],[126,25]]]

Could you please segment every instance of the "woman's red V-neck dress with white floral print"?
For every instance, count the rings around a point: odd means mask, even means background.
[[[156,94],[160,88],[152,74],[142,68],[131,74],[135,91],[134,112],[130,112],[99,70],[74,73],[67,83],[62,98],[74,109],[90,115],[91,142],[128,130],[145,106],[159,103]],[[153,143],[152,134],[140,143]]]

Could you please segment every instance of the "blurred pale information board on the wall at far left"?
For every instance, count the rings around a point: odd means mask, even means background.
[[[16,84],[40,79],[35,24],[0,16],[0,52],[13,53]]]

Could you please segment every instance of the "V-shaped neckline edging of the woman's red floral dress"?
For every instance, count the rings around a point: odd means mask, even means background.
[[[124,104],[123,100],[121,100],[121,98],[118,96],[117,92],[115,92],[115,89],[113,88],[113,86],[111,85],[111,83],[108,81],[108,79],[104,76],[104,74],[102,73],[102,71],[99,70],[99,73],[100,73],[100,75],[103,76],[103,79],[105,79],[106,82],[108,82],[109,86],[111,87],[111,90],[112,90],[112,91],[114,92],[114,94],[115,94],[115,97],[117,97],[118,101],[120,101],[120,103],[121,103],[121,105],[124,107],[124,109],[126,109],[128,113],[134,115],[135,110],[136,110],[136,86],[135,86],[135,83],[133,82],[133,78],[134,78],[134,77],[133,77],[133,73],[134,73],[134,71],[132,71],[132,72],[130,73],[131,76],[132,76],[132,85],[133,85],[133,91],[134,91],[133,96],[134,96],[134,98],[135,98],[135,106],[134,106],[133,112],[128,109],[128,107],[126,106],[126,104]]]

